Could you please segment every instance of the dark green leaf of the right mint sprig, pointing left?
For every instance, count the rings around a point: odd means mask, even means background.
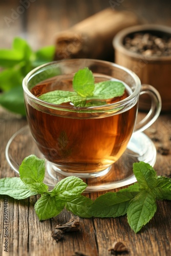
[[[139,192],[129,190],[109,192],[98,197],[90,206],[89,214],[94,217],[119,217],[126,214],[129,202]]]

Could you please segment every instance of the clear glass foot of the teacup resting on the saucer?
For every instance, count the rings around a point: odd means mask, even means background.
[[[112,165],[109,166],[108,168],[104,169],[104,170],[101,170],[100,172],[94,172],[94,173],[65,172],[65,171],[61,170],[60,168],[58,168],[55,164],[53,164],[49,161],[47,161],[46,167],[47,167],[47,171],[48,171],[49,176],[51,178],[55,179],[55,180],[58,180],[57,175],[61,175],[61,176],[65,176],[65,177],[76,176],[76,177],[81,178],[81,179],[90,179],[90,178],[102,177],[102,176],[109,173]]]

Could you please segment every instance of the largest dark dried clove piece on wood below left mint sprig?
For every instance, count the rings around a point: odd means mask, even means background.
[[[52,238],[58,242],[64,238],[65,232],[79,231],[79,220],[71,219],[69,222],[57,225],[52,231]]]

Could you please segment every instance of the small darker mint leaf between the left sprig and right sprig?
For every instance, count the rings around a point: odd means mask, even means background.
[[[70,202],[66,203],[67,210],[71,211],[74,215],[81,218],[90,218],[92,215],[89,214],[89,207],[93,204],[93,201],[84,196],[74,198]]]

